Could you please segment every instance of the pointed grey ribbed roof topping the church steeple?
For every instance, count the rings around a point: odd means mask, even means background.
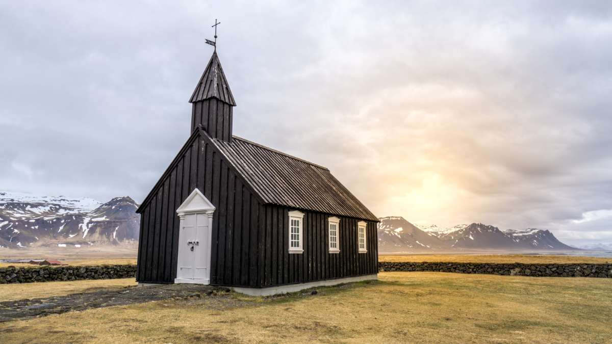
[[[189,102],[195,103],[209,98],[217,98],[234,107],[236,106],[234,95],[231,94],[230,84],[228,84],[225,73],[223,73],[217,51],[212,53],[211,61],[208,62]]]

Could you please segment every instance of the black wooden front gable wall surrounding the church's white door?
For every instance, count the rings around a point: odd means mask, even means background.
[[[143,203],[136,279],[174,282],[179,244],[176,209],[197,187],[217,208],[212,223],[211,283],[255,286],[261,203],[207,138],[195,136]]]

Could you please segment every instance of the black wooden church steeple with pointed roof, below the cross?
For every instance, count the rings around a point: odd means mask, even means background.
[[[232,114],[236,102],[217,51],[212,53],[211,61],[208,62],[189,102],[193,105],[191,132],[203,125],[212,138],[231,141]]]

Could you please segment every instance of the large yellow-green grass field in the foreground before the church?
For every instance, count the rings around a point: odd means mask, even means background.
[[[384,272],[379,278],[318,288],[316,295],[230,294],[10,321],[0,324],[0,342],[594,343],[612,338],[610,279],[439,272]],[[33,284],[39,294],[56,288]]]

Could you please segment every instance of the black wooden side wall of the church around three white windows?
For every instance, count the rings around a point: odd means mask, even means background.
[[[367,222],[367,253],[359,253],[357,222],[340,217],[340,253],[329,253],[328,214],[304,212],[304,253],[289,254],[288,211],[282,206],[265,205],[259,222],[259,283],[274,286],[378,273],[376,222]]]

